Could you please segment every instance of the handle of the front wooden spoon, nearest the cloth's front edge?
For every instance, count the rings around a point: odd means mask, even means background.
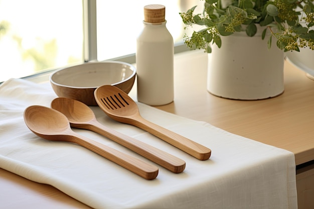
[[[151,180],[157,177],[158,167],[148,164],[140,159],[137,159],[133,156],[120,152],[116,149],[108,147],[104,144],[93,141],[89,138],[76,134],[75,132],[71,133],[70,142],[79,144],[105,158],[115,162],[118,165],[136,173],[137,175]]]

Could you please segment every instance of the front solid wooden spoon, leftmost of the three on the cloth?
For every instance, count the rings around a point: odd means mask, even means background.
[[[44,139],[79,144],[148,180],[158,175],[158,167],[75,133],[67,117],[57,110],[30,106],[24,111],[24,120],[32,132]]]

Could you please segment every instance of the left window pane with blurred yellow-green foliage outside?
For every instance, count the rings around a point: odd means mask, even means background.
[[[0,0],[0,82],[83,62],[82,2]]]

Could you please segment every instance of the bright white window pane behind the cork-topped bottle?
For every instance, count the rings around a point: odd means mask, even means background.
[[[107,60],[135,53],[136,37],[143,28],[143,7],[160,4],[166,7],[167,28],[175,43],[182,42],[184,25],[179,12],[194,6],[194,1],[169,0],[120,0],[97,1],[97,56]],[[189,8],[185,5],[191,5]],[[118,10],[117,10],[118,8]]]

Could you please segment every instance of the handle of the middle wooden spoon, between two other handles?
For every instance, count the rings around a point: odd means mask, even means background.
[[[110,129],[99,123],[97,120],[90,121],[88,129],[117,142],[174,173],[180,173],[185,169],[186,162],[184,160],[150,146],[149,144],[136,140],[128,135],[115,131],[114,129]]]

